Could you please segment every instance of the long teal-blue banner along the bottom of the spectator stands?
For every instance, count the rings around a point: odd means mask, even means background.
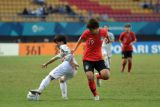
[[[100,26],[109,25],[111,32],[119,35],[125,22],[100,22]],[[137,35],[160,35],[160,23],[131,22]],[[74,28],[74,29],[73,29]],[[0,22],[0,36],[53,36],[65,34],[79,36],[86,29],[86,23],[76,22]]]

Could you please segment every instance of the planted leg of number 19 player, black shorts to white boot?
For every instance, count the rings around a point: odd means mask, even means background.
[[[83,61],[84,71],[88,79],[88,86],[95,97],[95,100],[99,100],[99,95],[96,90],[96,84],[94,81],[94,63],[91,61]]]

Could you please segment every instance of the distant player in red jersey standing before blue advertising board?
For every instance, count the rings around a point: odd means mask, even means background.
[[[133,52],[133,43],[137,41],[134,32],[131,31],[131,25],[127,23],[124,26],[124,32],[121,33],[119,41],[122,44],[122,67],[121,72],[124,72],[125,66],[128,62],[128,72],[131,72],[132,69],[132,52]]]

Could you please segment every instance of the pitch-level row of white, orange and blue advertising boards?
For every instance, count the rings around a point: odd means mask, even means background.
[[[74,42],[68,43],[70,49],[75,46]],[[82,43],[76,55],[82,55],[85,44]],[[58,53],[54,43],[0,43],[0,56],[30,56],[30,55],[55,55]],[[112,46],[113,54],[121,53],[121,45],[114,42]],[[160,54],[160,42],[137,42],[134,44],[135,54]]]

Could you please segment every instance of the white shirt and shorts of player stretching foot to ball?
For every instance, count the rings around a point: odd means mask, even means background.
[[[61,45],[59,47],[59,50],[60,52],[57,55],[57,57],[59,57],[62,60],[62,63],[59,66],[57,66],[55,69],[53,69],[49,73],[49,75],[51,75],[55,79],[58,79],[62,76],[64,76],[66,79],[70,79],[77,72],[73,66],[73,63],[77,64],[77,61],[75,60],[74,56],[72,55],[67,45]]]

